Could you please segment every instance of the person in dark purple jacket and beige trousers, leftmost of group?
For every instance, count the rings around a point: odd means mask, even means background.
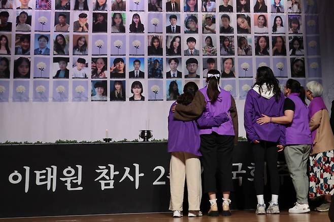
[[[201,163],[199,157],[199,130],[197,123],[202,127],[218,127],[223,122],[230,119],[228,113],[221,113],[213,118],[201,116],[196,121],[181,121],[175,119],[173,107],[175,104],[182,104],[194,112],[202,113],[206,107],[204,96],[198,91],[198,86],[194,82],[184,85],[183,94],[173,103],[168,116],[168,152],[171,153],[170,162],[170,187],[171,202],[170,210],[173,210],[173,217],[183,216],[183,193],[184,182],[187,179],[188,189],[188,216],[202,216],[199,211],[202,199]],[[197,93],[196,93],[197,92]],[[195,97],[196,93],[196,97]],[[196,105],[197,104],[197,105]],[[199,114],[201,115],[201,114]],[[198,115],[198,116],[199,116]],[[182,116],[177,116],[184,119]]]

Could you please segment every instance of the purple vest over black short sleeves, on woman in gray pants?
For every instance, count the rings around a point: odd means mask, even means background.
[[[287,145],[312,144],[309,127],[309,109],[298,97],[291,93],[288,98],[293,101],[295,109],[292,123],[286,126],[285,138]]]

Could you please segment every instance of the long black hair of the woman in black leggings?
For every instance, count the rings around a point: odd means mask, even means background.
[[[275,100],[282,96],[279,80],[275,77],[273,70],[267,66],[258,67],[256,72],[256,82],[254,85],[259,86],[259,93],[263,93],[262,85],[265,84],[268,90],[273,91]]]

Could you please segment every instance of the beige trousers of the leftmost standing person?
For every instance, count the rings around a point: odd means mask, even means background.
[[[198,156],[173,152],[170,163],[170,210],[183,210],[184,181],[187,177],[189,210],[199,210],[202,199],[201,162]]]

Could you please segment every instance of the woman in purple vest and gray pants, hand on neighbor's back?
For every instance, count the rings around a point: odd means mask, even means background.
[[[305,102],[305,89],[295,79],[288,79],[284,86],[284,116],[275,117],[262,114],[257,123],[285,124],[286,147],[284,156],[296,191],[297,202],[289,213],[310,211],[308,203],[309,180],[307,162],[311,152],[311,131],[309,109]]]

